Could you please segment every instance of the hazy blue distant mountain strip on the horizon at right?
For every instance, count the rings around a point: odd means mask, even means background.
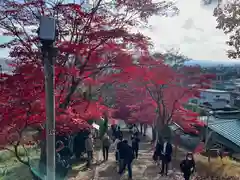
[[[226,60],[226,61],[217,61],[217,60],[190,60],[185,62],[186,66],[194,66],[200,65],[204,67],[211,67],[211,66],[235,66],[240,65],[240,60]]]

